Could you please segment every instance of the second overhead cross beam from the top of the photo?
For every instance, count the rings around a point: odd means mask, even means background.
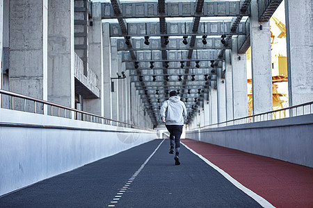
[[[186,31],[185,31],[186,24]],[[147,31],[145,28],[147,26]],[[128,33],[122,31],[120,24],[110,24],[111,37],[148,36],[184,36],[184,35],[246,35],[246,25],[239,22],[236,29],[232,30],[231,21],[206,21],[200,22],[198,31],[193,31],[193,22],[167,22],[166,34],[160,32],[159,22],[127,23]]]

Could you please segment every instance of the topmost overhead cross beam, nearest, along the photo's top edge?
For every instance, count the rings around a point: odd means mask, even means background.
[[[158,2],[159,3],[159,2]],[[203,9],[196,12],[195,2],[164,3],[164,12],[160,12],[157,2],[121,3],[121,16],[126,18],[161,17],[236,17],[249,15],[248,10],[241,12],[239,1],[205,1]],[[102,3],[102,19],[114,19],[111,3]]]

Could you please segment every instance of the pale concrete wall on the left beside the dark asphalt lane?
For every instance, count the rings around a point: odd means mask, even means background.
[[[152,139],[157,132],[0,109],[0,196]]]

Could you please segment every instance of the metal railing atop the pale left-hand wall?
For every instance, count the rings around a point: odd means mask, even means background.
[[[113,119],[107,119],[103,116],[98,116],[96,114],[91,114],[88,112],[83,112],[71,107],[66,107],[63,105],[58,105],[56,103],[50,103],[48,101],[43,101],[38,98],[32,98],[30,96],[24,96],[22,94],[17,94],[14,92],[8,92],[6,90],[0,89],[0,103],[1,108],[6,108],[10,110],[19,110],[22,112],[32,112],[35,114],[45,114],[48,116],[58,116],[67,119],[76,119],[81,121],[88,121],[93,123],[102,123],[106,125],[115,125],[124,128],[136,128],[140,130],[154,131],[150,128],[141,127],[138,125],[133,125],[130,123],[125,123],[122,121],[115,121]],[[3,102],[7,100],[6,102]],[[3,103],[6,103],[4,106]]]

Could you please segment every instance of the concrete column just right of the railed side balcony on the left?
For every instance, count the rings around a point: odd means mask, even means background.
[[[53,1],[53,0],[52,0]],[[88,67],[97,76],[99,98],[85,98],[83,109],[93,114],[104,116],[104,67],[101,3],[93,3],[93,26],[88,27]]]

